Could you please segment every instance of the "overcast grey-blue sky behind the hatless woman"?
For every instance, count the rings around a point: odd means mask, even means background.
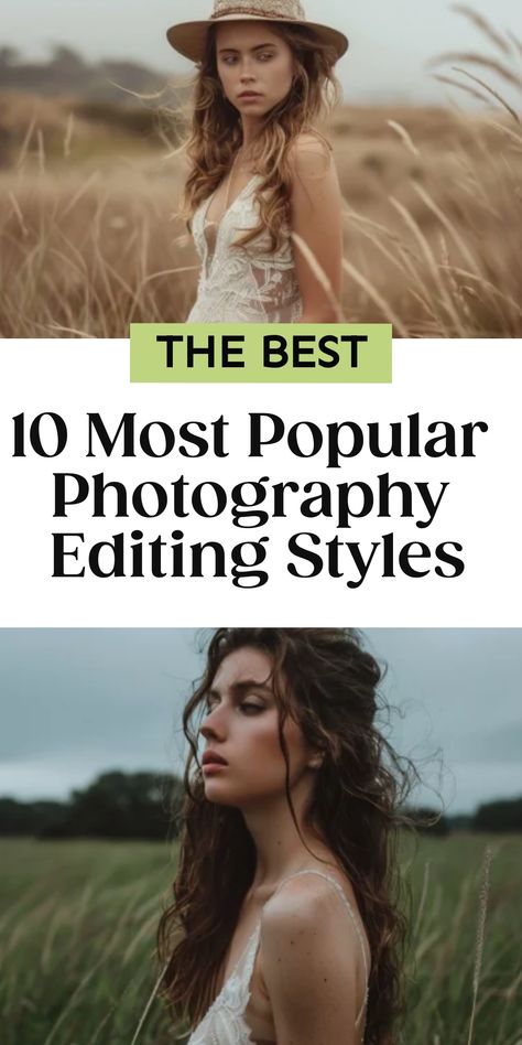
[[[109,768],[181,771],[202,670],[184,629],[0,631],[0,795],[65,797]],[[450,812],[522,793],[522,629],[369,628],[391,740]],[[442,753],[441,762],[436,757]],[[435,801],[421,793],[417,800]]]

